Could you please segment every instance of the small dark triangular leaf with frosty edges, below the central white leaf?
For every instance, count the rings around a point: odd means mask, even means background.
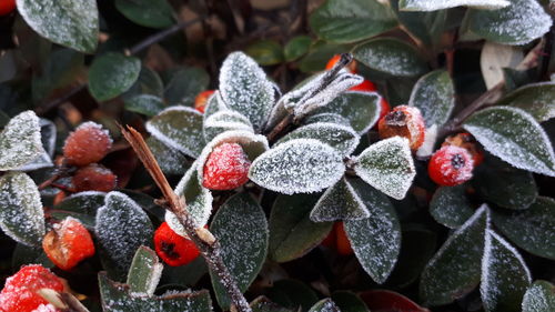
[[[310,217],[314,222],[361,220],[369,218],[370,212],[351,183],[343,178],[322,194]]]

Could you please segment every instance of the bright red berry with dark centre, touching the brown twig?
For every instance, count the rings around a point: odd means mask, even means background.
[[[154,249],[171,266],[188,264],[200,254],[196,245],[190,239],[175,233],[168,222],[163,222],[154,232]]]

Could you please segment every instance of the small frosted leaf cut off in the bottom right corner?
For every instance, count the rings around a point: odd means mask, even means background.
[[[522,312],[555,311],[555,286],[547,281],[536,281],[524,294]]]

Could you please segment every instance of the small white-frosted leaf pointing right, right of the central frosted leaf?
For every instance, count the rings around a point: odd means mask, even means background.
[[[354,171],[385,194],[403,199],[416,175],[408,140],[393,137],[372,144],[359,155]]]

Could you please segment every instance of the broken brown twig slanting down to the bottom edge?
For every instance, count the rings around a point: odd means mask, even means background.
[[[241,293],[241,290],[223,263],[220,243],[209,230],[195,227],[193,219],[185,210],[185,199],[179,198],[173,192],[142,135],[129,125],[127,129],[121,127],[121,133],[129,141],[137,155],[147,168],[147,171],[149,171],[150,175],[162,191],[168,203],[165,208],[178,217],[186,234],[206,260],[210,269],[220,278],[222,285],[224,285],[228,295],[231,298],[234,309],[239,312],[251,312],[252,310],[249,306],[249,302]]]

